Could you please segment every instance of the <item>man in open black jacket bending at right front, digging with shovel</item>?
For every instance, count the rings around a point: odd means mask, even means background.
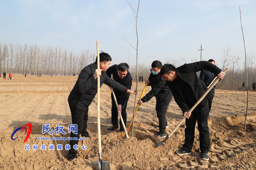
[[[172,64],[165,64],[160,74],[168,81],[168,86],[172,90],[175,102],[181,108],[186,119],[185,143],[183,148],[177,150],[179,155],[190,154],[195,138],[195,125],[197,121],[201,159],[208,160],[208,151],[210,149],[210,134],[208,128],[208,100],[212,96],[210,91],[206,97],[196,106],[192,113],[188,112],[194,104],[203,96],[207,87],[197,77],[196,72],[208,69],[223,79],[225,73],[215,65],[202,61],[190,64],[184,64],[175,68]]]

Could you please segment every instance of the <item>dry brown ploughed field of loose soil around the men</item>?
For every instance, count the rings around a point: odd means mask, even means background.
[[[69,141],[37,140],[37,137],[69,137],[70,134],[42,134],[42,125],[50,124],[53,129],[64,126],[68,131],[71,122],[67,98],[78,76],[13,75],[12,80],[0,78],[0,169],[83,169],[91,170],[93,161],[98,161],[97,137],[97,95],[89,107],[88,131],[91,138],[79,141],[78,159],[67,161],[65,145]],[[136,83],[133,83],[135,88]],[[138,96],[144,84],[138,84]],[[145,94],[150,91],[147,87]],[[195,130],[195,142],[190,155],[179,156],[176,150],[184,142],[183,123],[162,146],[154,145],[163,138],[153,137],[158,125],[155,98],[139,107],[129,139],[119,130],[108,131],[111,124],[111,91],[106,85],[101,87],[101,143],[102,159],[110,161],[113,170],[173,170],[173,169],[256,169],[256,93],[249,92],[248,115],[244,130],[246,112],[246,91],[215,90],[212,111],[208,119],[211,149],[210,160],[202,161],[199,150],[199,132]],[[133,114],[135,95],[130,95],[127,106],[127,121]],[[174,99],[166,114],[169,134],[182,119],[180,108]],[[18,131],[15,140],[11,134],[27,123],[33,125],[30,137]],[[128,123],[127,123],[128,127]],[[54,130],[54,129],[53,129]],[[25,145],[30,150],[25,150]],[[55,149],[49,150],[53,144]],[[57,150],[62,144],[63,150]],[[38,150],[32,146],[38,145]],[[41,150],[41,145],[46,150]],[[87,146],[82,150],[81,146]]]

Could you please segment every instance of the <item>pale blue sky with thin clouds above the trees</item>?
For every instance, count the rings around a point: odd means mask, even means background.
[[[138,0],[129,0],[137,12]],[[138,63],[166,59],[222,62],[256,48],[255,0],[140,0]],[[79,54],[88,48],[136,64],[136,20],[126,0],[0,0],[0,43],[37,44]],[[171,63],[172,64],[172,63]]]

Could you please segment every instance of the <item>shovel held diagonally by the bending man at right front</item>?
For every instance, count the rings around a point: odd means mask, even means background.
[[[228,68],[226,68],[223,72],[226,73],[227,70],[229,70]],[[216,77],[217,78],[217,77]],[[215,80],[215,79],[214,79]],[[213,81],[214,81],[213,80]],[[215,80],[212,85],[208,88],[208,90],[203,94],[203,96],[196,102],[196,104],[188,111],[188,112],[192,112],[196,106],[204,99],[204,97],[208,94],[208,92],[212,89],[212,87],[215,86],[216,83],[218,83],[220,79],[218,78],[217,80]],[[170,138],[170,136],[178,129],[178,127],[181,125],[181,123],[184,122],[186,118],[184,117],[178,124],[177,126],[173,129],[173,131],[162,141],[162,142],[159,142],[155,145],[155,147],[158,147],[158,146],[161,146],[163,143],[165,143],[165,141],[167,141],[167,139]]]

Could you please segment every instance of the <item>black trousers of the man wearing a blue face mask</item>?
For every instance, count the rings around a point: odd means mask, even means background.
[[[157,111],[157,118],[159,120],[159,131],[161,131],[162,133],[166,133],[165,129],[166,126],[168,126],[165,115],[171,100],[161,101],[161,99],[157,98],[157,103],[155,104],[155,110]]]

